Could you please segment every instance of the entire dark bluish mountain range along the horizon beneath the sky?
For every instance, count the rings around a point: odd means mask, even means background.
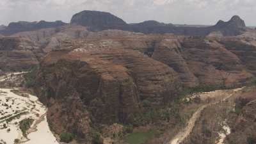
[[[214,26],[194,26],[194,25],[173,25],[147,20],[145,22],[127,24],[124,20],[108,12],[88,11],[76,13],[70,24],[86,26],[90,31],[102,31],[106,29],[120,29],[138,33],[173,33],[176,35],[198,35],[206,36],[214,31],[220,31],[222,35],[239,35],[244,31],[246,25],[239,16],[234,16],[228,22],[220,20]],[[20,31],[34,31],[43,28],[58,28],[67,25],[65,22],[11,22],[8,26],[0,26],[0,34],[12,35]]]

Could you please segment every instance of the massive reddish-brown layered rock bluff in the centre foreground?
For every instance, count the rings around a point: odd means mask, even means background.
[[[76,45],[72,49],[49,53],[38,73],[36,91],[40,99],[49,104],[48,118],[57,131],[76,128],[86,132],[79,127],[82,121],[73,122],[74,116],[70,116],[67,109],[59,109],[62,105],[78,107],[76,111],[85,116],[82,119],[86,119],[89,111],[93,123],[127,123],[142,111],[144,100],[152,106],[162,106],[179,93],[178,74],[140,52],[121,47],[95,50]],[[57,111],[63,113],[61,117],[66,118],[68,125],[51,115]]]

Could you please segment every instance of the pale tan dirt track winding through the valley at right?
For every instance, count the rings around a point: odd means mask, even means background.
[[[200,108],[198,108],[196,110],[196,112],[193,114],[193,116],[189,119],[188,125],[182,129],[172,140],[170,140],[168,143],[166,144],[180,144],[182,143],[182,141],[185,140],[185,138],[187,138],[189,136],[189,134],[192,132],[193,127],[195,126],[196,120],[198,120],[198,118],[200,118],[200,114],[202,113],[202,111],[209,107],[212,106],[214,104],[218,104],[220,102],[223,102],[225,100],[227,100],[228,98],[232,97],[232,95],[234,95],[234,93],[238,92],[239,90],[242,90],[243,88],[237,88],[234,90],[218,90],[215,92],[209,92],[209,93],[204,93],[203,95],[200,95],[200,97],[218,97],[220,95],[223,95],[223,97],[221,97],[220,100],[215,100],[209,104],[205,104],[204,106],[201,106]]]

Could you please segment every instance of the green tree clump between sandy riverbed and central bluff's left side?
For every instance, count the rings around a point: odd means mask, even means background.
[[[35,79],[36,79],[36,72],[38,70],[38,67],[31,67],[29,72],[24,74],[25,78],[25,86],[27,88],[31,88],[35,85]]]

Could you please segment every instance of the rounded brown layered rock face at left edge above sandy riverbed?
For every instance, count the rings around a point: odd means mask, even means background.
[[[16,71],[38,65],[44,56],[42,49],[29,40],[19,37],[0,38],[0,69]]]

